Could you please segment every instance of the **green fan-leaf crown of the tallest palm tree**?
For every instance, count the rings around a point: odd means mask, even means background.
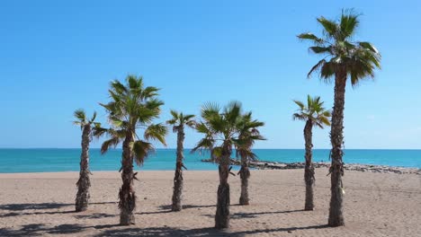
[[[381,67],[381,54],[370,42],[353,40],[360,23],[358,16],[353,11],[343,11],[339,22],[322,16],[317,20],[323,27],[323,38],[309,32],[298,36],[314,43],[309,47],[310,52],[325,56],[311,68],[308,76],[318,72],[322,79],[329,80],[342,71],[350,76],[352,85],[374,76],[374,69]]]

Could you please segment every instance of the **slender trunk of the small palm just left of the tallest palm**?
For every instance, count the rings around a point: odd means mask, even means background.
[[[314,166],[312,162],[312,152],[311,149],[313,147],[312,143],[312,128],[313,123],[309,119],[306,122],[306,126],[304,127],[304,140],[306,143],[306,166],[304,168],[304,180],[306,182],[306,203],[304,205],[304,210],[312,211],[314,210],[314,203],[313,203],[313,186],[314,186]]]

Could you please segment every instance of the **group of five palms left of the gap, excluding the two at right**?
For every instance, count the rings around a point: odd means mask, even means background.
[[[79,119],[77,124],[84,127],[81,174],[80,180],[77,182],[81,191],[76,196],[76,211],[84,211],[88,205],[90,186],[88,147],[91,136],[107,136],[108,139],[101,146],[102,154],[106,153],[110,147],[122,143],[120,170],[122,186],[119,191],[120,224],[135,224],[133,212],[136,207],[136,194],[133,189],[133,181],[137,180],[137,172],[133,171],[133,163],[136,162],[141,165],[148,154],[154,150],[151,140],[166,145],[167,127],[159,123],[153,123],[154,118],[159,118],[160,107],[164,104],[163,101],[157,99],[158,91],[156,87],[145,87],[141,76],[128,75],[126,83],[113,81],[109,90],[112,101],[101,104],[108,112],[108,120],[111,125],[108,128],[101,127],[99,123],[94,123],[96,113],[94,118],[87,120],[85,112],[76,110],[75,116]],[[264,139],[257,130],[257,127],[262,127],[264,123],[253,119],[251,112],[243,113],[241,105],[237,101],[229,103],[224,110],[220,110],[216,104],[206,104],[202,108],[202,121],[199,123],[193,119],[194,115],[184,115],[182,112],[175,110],[171,110],[170,113],[173,118],[167,120],[166,124],[172,126],[173,131],[177,133],[174,193],[171,208],[173,211],[182,210],[183,168],[185,168],[183,163],[184,127],[192,127],[204,135],[204,138],[193,148],[193,152],[198,149],[208,149],[210,153],[218,157],[221,181],[218,191],[215,226],[226,228],[229,220],[228,173],[231,169],[229,163],[232,148],[237,149],[237,154],[242,159],[240,204],[247,205],[247,180],[250,175],[248,160],[255,159],[255,154],[251,151],[255,140]],[[139,130],[143,132],[143,140],[139,137]],[[83,204],[80,204],[80,200],[83,201]]]

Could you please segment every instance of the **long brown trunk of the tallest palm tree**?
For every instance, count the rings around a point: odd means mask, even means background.
[[[343,215],[343,186],[342,176],[344,175],[344,164],[342,162],[342,145],[344,143],[344,108],[345,108],[345,85],[346,72],[341,70],[336,73],[335,78],[335,104],[332,113],[332,127],[330,132],[330,142],[332,143],[330,166],[331,173],[331,198],[329,208],[329,226],[345,225]]]

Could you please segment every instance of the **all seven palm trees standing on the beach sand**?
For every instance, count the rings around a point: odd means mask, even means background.
[[[334,78],[335,97],[333,112],[323,107],[320,97],[308,95],[307,104],[294,101],[299,110],[293,114],[294,119],[306,122],[304,127],[305,140],[305,169],[304,180],[306,184],[305,210],[313,210],[313,186],[315,183],[315,170],[312,163],[312,127],[330,126],[330,140],[332,150],[330,154],[331,166],[331,200],[328,224],[330,226],[344,225],[343,197],[344,186],[342,176],[343,145],[344,145],[344,108],[345,85],[348,78],[354,86],[364,78],[373,77],[376,67],[380,67],[381,55],[369,42],[354,41],[354,32],[359,25],[358,15],[352,11],[343,11],[339,21],[330,21],[324,17],[318,18],[323,27],[323,37],[319,38],[312,33],[302,33],[300,40],[309,40],[314,45],[309,47],[313,53],[323,56],[317,65],[313,66],[308,76],[318,73],[320,78],[330,81]],[[166,145],[167,127],[154,123],[159,118],[163,101],[158,100],[156,87],[145,86],[143,78],[128,75],[125,83],[113,81],[109,90],[111,101],[100,104],[108,113],[110,127],[101,127],[94,122],[94,117],[85,117],[85,111],[76,110],[76,124],[82,128],[82,154],[80,162],[80,178],[76,185],[76,211],[84,211],[89,199],[89,142],[92,136],[107,136],[103,142],[101,153],[104,154],[111,147],[122,143],[121,180],[119,191],[119,208],[121,210],[120,224],[135,223],[133,214],[136,207],[136,195],[133,181],[137,180],[137,172],[133,171],[134,162],[141,165],[145,158],[154,151],[152,141]],[[217,210],[215,227],[219,229],[229,226],[229,184],[230,174],[235,175],[231,169],[231,156],[235,150],[236,157],[241,160],[238,174],[241,179],[240,205],[248,205],[248,179],[250,177],[249,162],[255,161],[256,155],[252,152],[255,141],[264,140],[259,128],[264,123],[252,117],[252,112],[244,112],[241,103],[231,101],[225,107],[216,103],[206,103],[202,106],[201,119],[194,120],[194,115],[184,115],[175,110],[170,111],[172,118],[166,124],[172,126],[177,134],[177,150],[174,177],[174,193],[172,197],[172,211],[181,211],[183,193],[184,167],[184,128],[191,127],[202,135],[202,139],[195,145],[192,152],[207,150],[215,162],[219,164],[219,187],[217,195]],[[329,118],[331,117],[331,121]],[[139,133],[143,136],[139,136]]]

